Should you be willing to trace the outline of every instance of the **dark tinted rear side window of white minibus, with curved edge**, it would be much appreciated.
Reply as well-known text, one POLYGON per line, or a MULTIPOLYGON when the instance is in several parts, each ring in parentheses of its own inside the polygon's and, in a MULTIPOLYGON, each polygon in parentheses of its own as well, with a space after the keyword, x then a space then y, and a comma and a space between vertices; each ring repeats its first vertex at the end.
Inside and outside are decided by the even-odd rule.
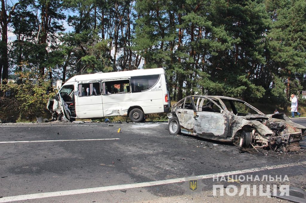
POLYGON ((154 87, 160 75, 146 75, 146 76, 136 76, 131 77, 131 89, 132 92, 143 92, 154 87))

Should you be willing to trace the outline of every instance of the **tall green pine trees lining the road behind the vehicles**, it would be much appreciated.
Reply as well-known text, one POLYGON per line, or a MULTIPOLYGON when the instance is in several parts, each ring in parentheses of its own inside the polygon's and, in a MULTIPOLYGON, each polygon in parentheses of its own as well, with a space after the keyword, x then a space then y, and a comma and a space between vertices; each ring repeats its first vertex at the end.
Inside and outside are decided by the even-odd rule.
POLYGON ((0 44, 0 64, 9 50, 6 69, 18 84, 15 71, 38 68, 55 81, 162 67, 175 100, 215 94, 285 108, 291 93, 306 89, 305 0, 19 3, 9 24, 16 40, 0 44), (62 32, 65 19, 70 27, 62 32))

